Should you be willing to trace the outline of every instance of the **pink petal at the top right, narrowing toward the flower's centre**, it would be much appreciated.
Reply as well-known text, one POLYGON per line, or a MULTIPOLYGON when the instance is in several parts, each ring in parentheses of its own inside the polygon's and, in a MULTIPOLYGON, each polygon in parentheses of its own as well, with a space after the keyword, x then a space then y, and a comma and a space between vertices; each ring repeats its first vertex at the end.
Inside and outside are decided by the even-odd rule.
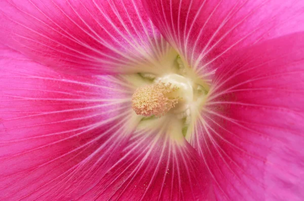
POLYGON ((167 41, 210 81, 234 50, 304 30, 304 2, 280 0, 143 0, 167 41))

